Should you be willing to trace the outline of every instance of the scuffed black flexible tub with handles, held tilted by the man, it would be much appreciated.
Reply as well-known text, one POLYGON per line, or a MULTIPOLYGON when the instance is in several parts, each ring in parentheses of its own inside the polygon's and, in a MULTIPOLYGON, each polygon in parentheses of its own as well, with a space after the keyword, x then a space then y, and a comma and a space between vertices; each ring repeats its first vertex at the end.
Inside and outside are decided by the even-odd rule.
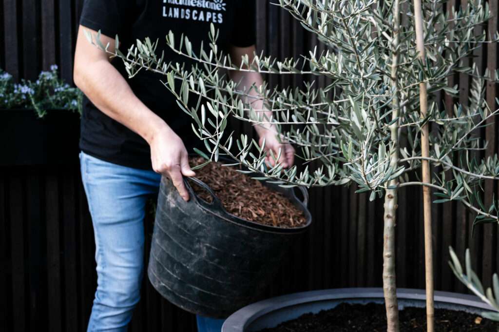
POLYGON ((164 298, 188 312, 227 318, 254 302, 292 241, 310 225, 308 195, 300 188, 301 202, 292 189, 265 184, 288 197, 307 219, 305 226, 282 229, 231 215, 206 184, 198 179, 185 182, 189 202, 169 179, 161 180, 149 280, 164 298), (190 181, 210 192, 213 203, 198 198, 190 181))

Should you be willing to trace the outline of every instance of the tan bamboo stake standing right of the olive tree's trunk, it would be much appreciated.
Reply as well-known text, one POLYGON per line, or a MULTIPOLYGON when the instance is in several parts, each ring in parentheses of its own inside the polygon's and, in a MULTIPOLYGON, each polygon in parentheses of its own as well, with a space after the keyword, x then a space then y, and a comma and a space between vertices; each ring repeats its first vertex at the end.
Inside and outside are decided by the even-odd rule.
MULTIPOLYGON (((416 23, 416 44, 419 51, 419 58, 426 62, 425 38, 423 31, 423 10, 421 0, 414 0, 414 18, 416 23)), ((426 118, 428 113, 428 93, 426 83, 419 84, 419 101, 421 107, 421 118, 426 118)), ((421 156, 430 157, 430 140, 428 122, 421 128, 421 156)), ((431 183, 430 162, 423 159, 422 164, 423 182, 431 183)), ((431 210, 431 188, 423 187, 423 206, 425 224, 425 270, 426 270, 426 320, 427 332, 435 330, 435 304, 434 304, 434 279, 433 279, 433 230, 432 230, 432 210, 431 210)))

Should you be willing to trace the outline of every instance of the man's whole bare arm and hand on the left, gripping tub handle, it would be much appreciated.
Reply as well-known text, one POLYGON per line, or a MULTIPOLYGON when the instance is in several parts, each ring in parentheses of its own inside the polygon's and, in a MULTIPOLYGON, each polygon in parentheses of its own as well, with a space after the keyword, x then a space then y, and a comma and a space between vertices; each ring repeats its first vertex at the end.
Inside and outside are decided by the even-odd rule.
MULTIPOLYGON (((74 82, 109 117, 142 136, 151 147, 153 169, 170 177, 185 200, 189 194, 182 175, 194 176, 182 139, 153 111, 135 96, 125 78, 114 68, 109 55, 88 42, 88 30, 79 27, 74 60, 74 82)), ((101 35, 104 45, 114 51, 113 38, 101 35)))

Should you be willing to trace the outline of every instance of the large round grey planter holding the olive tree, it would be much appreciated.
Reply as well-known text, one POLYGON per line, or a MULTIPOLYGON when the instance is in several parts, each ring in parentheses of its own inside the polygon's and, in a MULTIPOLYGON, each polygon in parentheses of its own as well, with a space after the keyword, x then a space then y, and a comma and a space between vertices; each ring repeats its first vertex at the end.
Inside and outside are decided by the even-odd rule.
MULTIPOLYGON (((425 291, 399 289, 399 307, 425 307, 425 291)), ((318 313, 340 303, 383 303, 381 288, 345 288, 296 293, 264 300, 245 307, 227 319, 222 332, 254 332, 273 328, 306 313, 318 313)), ((480 314, 491 307, 471 295, 435 293, 435 307, 480 314)))

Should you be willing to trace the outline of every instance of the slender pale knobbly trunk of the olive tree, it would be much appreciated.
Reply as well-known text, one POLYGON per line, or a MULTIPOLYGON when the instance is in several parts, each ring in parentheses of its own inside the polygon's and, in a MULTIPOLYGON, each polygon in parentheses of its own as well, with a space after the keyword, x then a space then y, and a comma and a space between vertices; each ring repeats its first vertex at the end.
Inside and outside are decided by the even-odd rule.
MULTIPOLYGON (((399 65, 399 29, 400 13, 399 0, 393 4, 393 39, 392 39, 392 68, 391 84, 393 91, 392 120, 399 117, 400 90, 398 86, 399 65)), ((399 123, 393 121, 390 125, 390 166, 393 169, 399 163, 399 123)), ((397 279, 395 271, 395 226, 397 216, 397 186, 398 179, 390 180, 385 192, 384 230, 383 230, 383 293, 385 296, 387 332, 399 332, 399 305, 397 301, 397 279)))

